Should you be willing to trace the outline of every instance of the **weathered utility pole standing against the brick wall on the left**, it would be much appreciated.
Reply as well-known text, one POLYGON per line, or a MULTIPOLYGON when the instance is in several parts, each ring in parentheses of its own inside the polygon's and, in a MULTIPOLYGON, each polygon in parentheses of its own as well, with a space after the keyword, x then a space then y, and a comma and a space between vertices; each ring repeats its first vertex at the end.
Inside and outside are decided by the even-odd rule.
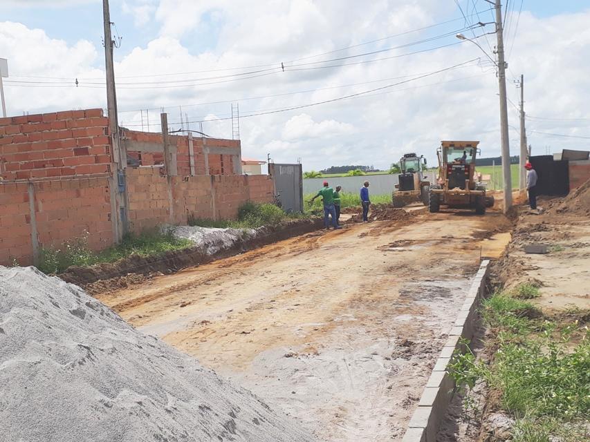
POLYGON ((127 186, 125 169, 127 168, 127 152, 121 145, 119 122, 117 116, 117 93, 115 90, 115 70, 113 68, 113 46, 111 36, 111 12, 109 0, 102 0, 102 18, 104 21, 104 61, 107 71, 107 116, 109 117, 109 129, 113 145, 113 163, 116 173, 111 181, 111 198, 114 197, 113 208, 116 213, 111 213, 113 221, 113 237, 116 242, 122 239, 127 232, 127 186))

